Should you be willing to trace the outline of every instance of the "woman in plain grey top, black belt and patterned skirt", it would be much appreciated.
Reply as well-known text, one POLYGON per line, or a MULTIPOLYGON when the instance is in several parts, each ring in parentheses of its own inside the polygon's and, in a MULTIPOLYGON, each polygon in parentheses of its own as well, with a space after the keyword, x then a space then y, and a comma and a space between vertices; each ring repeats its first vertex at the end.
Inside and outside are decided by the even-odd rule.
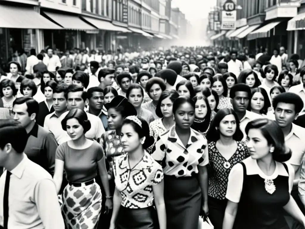
POLYGON ((107 213, 113 208, 104 151, 100 144, 85 137, 91 124, 83 110, 70 110, 61 124, 71 140, 57 147, 53 180, 59 193, 66 172, 69 184, 60 196, 66 227, 96 228, 102 209, 101 188, 95 183, 97 169, 106 192, 107 213))

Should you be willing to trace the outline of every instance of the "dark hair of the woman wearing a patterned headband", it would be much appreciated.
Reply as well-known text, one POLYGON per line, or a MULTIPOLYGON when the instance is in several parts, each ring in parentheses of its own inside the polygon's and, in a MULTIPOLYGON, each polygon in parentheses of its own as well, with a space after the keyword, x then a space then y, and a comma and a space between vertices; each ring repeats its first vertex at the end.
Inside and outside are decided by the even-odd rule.
POLYGON ((127 118, 124 119, 122 127, 123 125, 130 124, 132 128, 135 130, 135 132, 139 135, 139 138, 145 137, 143 149, 146 150, 152 144, 149 137, 149 125, 143 118, 140 117, 137 118, 141 121, 142 128, 139 124, 127 118))

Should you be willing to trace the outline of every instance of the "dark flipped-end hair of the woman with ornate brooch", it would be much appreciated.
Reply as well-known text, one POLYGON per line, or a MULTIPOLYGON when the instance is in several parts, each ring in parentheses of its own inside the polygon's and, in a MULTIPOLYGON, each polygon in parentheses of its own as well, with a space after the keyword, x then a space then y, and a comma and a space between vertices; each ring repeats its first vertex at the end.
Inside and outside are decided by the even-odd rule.
POLYGON ((274 161, 286 162, 291 158, 292 152, 286 150, 283 131, 275 121, 267 118, 255 119, 246 125, 245 132, 247 135, 250 129, 260 129, 268 145, 274 147, 272 152, 274 161))

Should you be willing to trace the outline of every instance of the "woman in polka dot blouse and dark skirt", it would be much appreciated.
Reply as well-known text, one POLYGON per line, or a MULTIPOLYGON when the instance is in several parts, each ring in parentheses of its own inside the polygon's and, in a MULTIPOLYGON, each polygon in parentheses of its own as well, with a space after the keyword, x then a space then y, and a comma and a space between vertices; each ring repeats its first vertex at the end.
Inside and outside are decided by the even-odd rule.
POLYGON ((163 166, 167 228, 197 229, 201 209, 206 214, 209 211, 207 140, 190 128, 195 119, 194 101, 179 96, 173 113, 175 125, 158 137, 152 157, 163 166))

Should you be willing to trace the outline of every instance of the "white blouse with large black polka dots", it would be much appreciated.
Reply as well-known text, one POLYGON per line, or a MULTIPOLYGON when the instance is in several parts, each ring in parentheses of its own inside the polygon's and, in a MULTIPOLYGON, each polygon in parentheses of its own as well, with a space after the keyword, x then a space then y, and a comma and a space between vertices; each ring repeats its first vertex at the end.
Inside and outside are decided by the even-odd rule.
POLYGON ((162 161, 165 175, 183 177, 198 173, 197 166, 209 163, 206 138, 191 128, 190 138, 186 147, 176 133, 175 126, 158 137, 152 157, 162 161))

